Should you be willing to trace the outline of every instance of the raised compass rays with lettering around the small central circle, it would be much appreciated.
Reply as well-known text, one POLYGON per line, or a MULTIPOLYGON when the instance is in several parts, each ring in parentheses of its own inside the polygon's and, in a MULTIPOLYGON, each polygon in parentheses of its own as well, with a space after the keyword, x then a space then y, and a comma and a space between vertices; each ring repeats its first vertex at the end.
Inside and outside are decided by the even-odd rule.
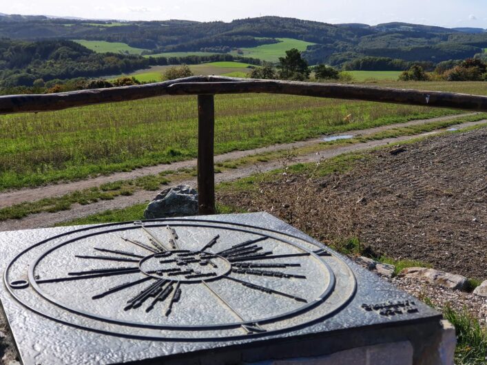
MULTIPOLYGON (((141 309, 145 306, 145 311, 152 311, 157 305, 164 306, 166 316, 170 315, 174 304, 181 300, 182 285, 203 284, 209 292, 218 298, 220 304, 225 306, 242 322, 248 322, 245 318, 232 307, 223 296, 214 289, 209 280, 226 279, 241 284, 247 288, 267 293, 269 295, 279 295, 282 298, 289 298, 297 302, 307 303, 307 300, 300 298, 292 293, 271 289, 267 286, 260 286, 245 280, 231 277, 231 273, 245 275, 269 276, 281 279, 306 279, 305 275, 299 275, 288 269, 300 267, 297 262, 289 263, 269 263, 267 261, 277 258, 289 258, 307 256, 309 253, 294 253, 284 255, 274 255, 272 251, 265 251, 259 244, 267 240, 268 236, 262 236, 253 240, 245 240, 232 245, 229 249, 216 251, 213 247, 217 244, 220 235, 214 236, 199 251, 189 251, 180 249, 178 244, 178 234, 176 229, 167 225, 169 232, 167 242, 162 242, 157 238, 149 228, 141 225, 144 233, 147 235, 147 242, 133 240, 121 237, 122 240, 137 247, 142 247, 150 254, 147 256, 137 255, 129 251, 102 249, 94 247, 93 255, 76 255, 76 258, 85 260, 105 260, 113 262, 130 262, 134 266, 123 266, 103 269, 89 269, 86 271, 74 271, 68 273, 67 277, 37 280, 37 284, 65 282, 74 280, 88 280, 92 278, 112 276, 112 275, 129 275, 141 272, 146 276, 144 278, 124 282, 113 286, 107 291, 103 291, 92 296, 92 300, 104 298, 107 295, 123 291, 132 286, 143 286, 143 289, 129 298, 125 303, 124 311, 141 309), (110 253, 99 254, 96 253, 110 253), (259 263, 266 261, 265 263, 259 263), (136 265, 136 266, 135 266, 136 265)), ((329 255, 324 250, 318 250, 320 255, 329 255)), ((242 324, 242 329, 247 333, 262 333, 265 329, 261 328, 258 323, 242 324)))

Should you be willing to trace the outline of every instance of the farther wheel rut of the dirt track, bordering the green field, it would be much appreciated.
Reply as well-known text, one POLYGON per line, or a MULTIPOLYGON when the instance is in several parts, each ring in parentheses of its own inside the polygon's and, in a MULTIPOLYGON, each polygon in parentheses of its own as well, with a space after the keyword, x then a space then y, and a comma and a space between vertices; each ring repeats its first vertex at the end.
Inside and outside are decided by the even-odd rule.
MULTIPOLYGON (((460 114, 455 116, 442 116, 439 118, 431 118, 431 119, 421 119, 416 121, 409 121, 406 123, 399 123, 393 125, 383 125, 381 127, 369 128, 369 129, 360 129, 349 131, 343 134, 352 134, 353 136, 366 136, 370 134, 375 134, 378 132, 383 132, 388 129, 393 129, 397 127, 407 127, 411 125, 422 125, 425 123, 432 123, 438 121, 450 121, 455 118, 463 117, 463 116, 472 116, 477 113, 468 113, 468 114, 460 114)), ((245 156, 251 156, 254 154, 262 154, 264 152, 274 152, 279 150, 286 150, 286 149, 293 149, 304 147, 307 145, 313 145, 315 143, 322 142, 322 138, 313 138, 309 140, 303 140, 300 142, 295 143, 285 143, 282 145, 271 145, 269 147, 262 147, 257 149, 250 149, 247 151, 235 151, 229 152, 228 154, 222 154, 215 156, 215 162, 220 163, 227 160, 235 160, 237 158, 242 158, 245 156)), ((128 172, 117 172, 110 175, 103 175, 97 176, 95 178, 89 178, 86 180, 79 180, 73 181, 70 183, 61 183, 56 185, 46 185, 44 187, 36 187, 36 188, 26 188, 26 189, 19 189, 14 191, 6 191, 0 193, 0 208, 2 207, 9 207, 10 205, 19 204, 20 202, 26 201, 34 201, 40 200, 43 198, 51 198, 54 196, 63 196, 65 194, 70 193, 71 191, 87 189, 90 187, 98 187, 104 183, 111 183, 116 180, 129 180, 133 178, 138 178, 141 176, 146 175, 155 175, 161 171, 175 171, 178 169, 184 169, 188 167, 196 167, 196 159, 193 160, 186 160, 181 161, 178 163, 172 163, 170 165, 156 165, 156 166, 149 166, 143 167, 141 169, 134 169, 128 172)))

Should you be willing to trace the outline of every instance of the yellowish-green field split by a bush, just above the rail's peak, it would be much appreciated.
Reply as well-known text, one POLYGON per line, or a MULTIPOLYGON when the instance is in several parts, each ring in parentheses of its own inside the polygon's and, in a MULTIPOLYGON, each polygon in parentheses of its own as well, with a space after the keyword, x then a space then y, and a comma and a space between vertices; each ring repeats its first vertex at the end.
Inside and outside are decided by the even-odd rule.
MULTIPOLYGON (((211 62, 200 65, 189 65, 189 68, 195 75, 222 75, 230 77, 246 77, 250 71, 248 63, 241 62, 211 62)), ((118 79, 122 76, 134 76, 138 81, 143 83, 151 81, 161 81, 162 74, 169 66, 152 66, 145 70, 138 70, 130 74, 121 74, 110 76, 109 79, 118 79)))

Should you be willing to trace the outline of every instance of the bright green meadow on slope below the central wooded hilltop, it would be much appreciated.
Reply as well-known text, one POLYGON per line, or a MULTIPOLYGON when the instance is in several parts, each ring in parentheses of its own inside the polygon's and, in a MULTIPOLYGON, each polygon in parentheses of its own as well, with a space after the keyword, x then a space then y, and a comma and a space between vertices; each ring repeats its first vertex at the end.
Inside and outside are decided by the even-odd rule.
POLYGON ((306 50, 308 45, 315 43, 309 43, 292 38, 279 38, 279 43, 259 45, 253 48, 240 48, 243 54, 238 54, 236 51, 232 51, 234 56, 252 57, 254 59, 261 59, 262 61, 278 62, 279 57, 285 56, 287 50, 291 48, 297 48, 300 51, 306 50))

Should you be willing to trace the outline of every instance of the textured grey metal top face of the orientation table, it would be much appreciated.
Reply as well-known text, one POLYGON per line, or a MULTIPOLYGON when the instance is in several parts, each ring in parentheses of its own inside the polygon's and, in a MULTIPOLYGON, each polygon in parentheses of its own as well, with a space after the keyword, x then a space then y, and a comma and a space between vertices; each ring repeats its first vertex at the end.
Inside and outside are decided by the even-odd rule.
POLYGON ((46 364, 438 317, 265 213, 5 232, 0 253, 21 355, 46 364))

